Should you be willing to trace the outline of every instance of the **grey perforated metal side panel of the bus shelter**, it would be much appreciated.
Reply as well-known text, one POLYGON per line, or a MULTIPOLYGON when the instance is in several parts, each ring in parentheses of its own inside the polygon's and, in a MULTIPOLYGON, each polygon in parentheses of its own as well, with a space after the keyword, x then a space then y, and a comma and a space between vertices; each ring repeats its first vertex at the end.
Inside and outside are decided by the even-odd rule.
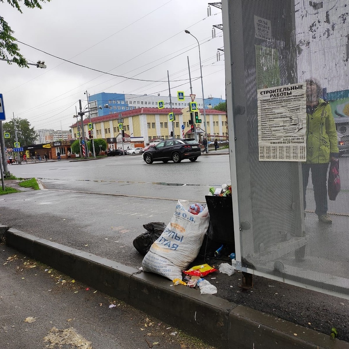
POLYGON ((222 1, 236 268, 346 298, 348 8, 347 0, 222 1), (258 108, 262 95, 270 112, 258 108), (263 127, 272 141, 262 149, 263 127), (328 185, 335 195, 338 179, 327 178, 339 151, 333 201, 328 185))

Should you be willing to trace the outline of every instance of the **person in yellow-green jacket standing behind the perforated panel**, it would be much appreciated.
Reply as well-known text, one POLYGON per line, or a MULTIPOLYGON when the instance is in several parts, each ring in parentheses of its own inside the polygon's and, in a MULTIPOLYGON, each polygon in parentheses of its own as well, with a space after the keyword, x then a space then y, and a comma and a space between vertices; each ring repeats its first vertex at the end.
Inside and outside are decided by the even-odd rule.
POLYGON ((327 171, 331 158, 338 157, 338 139, 331 106, 321 96, 321 86, 314 79, 306 80, 306 162, 302 163, 303 199, 309 181, 314 188, 315 213, 321 223, 331 224, 327 214, 327 171))

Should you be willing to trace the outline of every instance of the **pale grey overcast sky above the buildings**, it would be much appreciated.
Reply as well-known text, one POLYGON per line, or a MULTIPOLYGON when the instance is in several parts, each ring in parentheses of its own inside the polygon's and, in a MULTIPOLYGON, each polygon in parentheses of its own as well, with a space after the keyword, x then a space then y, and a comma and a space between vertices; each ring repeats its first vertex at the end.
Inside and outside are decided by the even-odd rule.
MULTIPOLYGON (((1 16, 21 42, 78 64, 126 77, 166 82, 127 80, 75 66, 30 47, 18 44, 29 62, 45 60, 46 69, 19 68, 1 64, 0 93, 7 120, 26 118, 32 126, 63 130, 74 123, 75 106, 84 91, 168 95, 170 80, 188 79, 187 55, 192 80, 200 77, 196 40, 201 49, 205 98, 225 98, 223 32, 212 25, 222 23, 221 10, 202 0, 52 0, 43 9, 22 8, 23 14, 1 3, 1 16), (149 50, 150 49, 150 50, 149 50), (176 56, 176 57, 175 57, 176 56)), ((171 82, 171 94, 184 90, 187 81, 171 82), (177 85, 184 84, 181 87, 177 85), (172 89, 173 87, 173 89, 172 89)), ((201 97, 200 79, 193 81, 193 93, 201 97)))

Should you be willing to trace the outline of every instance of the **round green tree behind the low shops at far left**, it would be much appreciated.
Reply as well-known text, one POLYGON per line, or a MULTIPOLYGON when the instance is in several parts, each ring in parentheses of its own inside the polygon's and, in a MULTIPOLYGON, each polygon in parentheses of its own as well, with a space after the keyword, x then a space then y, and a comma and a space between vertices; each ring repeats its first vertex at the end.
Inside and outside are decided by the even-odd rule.
MULTIPOLYGON (((38 138, 38 134, 34 130, 34 127, 30 127, 30 122, 27 119, 17 118, 17 139, 21 147, 34 144, 38 138)), ((10 134, 10 138, 5 138, 5 145, 8 148, 13 148, 15 140, 15 124, 14 120, 3 123, 3 131, 10 134)))

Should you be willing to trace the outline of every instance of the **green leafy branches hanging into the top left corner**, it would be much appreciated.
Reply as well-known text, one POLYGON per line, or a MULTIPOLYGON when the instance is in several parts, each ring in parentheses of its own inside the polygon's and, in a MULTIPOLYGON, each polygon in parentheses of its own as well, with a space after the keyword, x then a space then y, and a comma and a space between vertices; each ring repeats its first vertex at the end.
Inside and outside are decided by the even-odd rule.
MULTIPOLYGON (((49 2, 51 0, 24 0, 24 6, 29 8, 39 8, 41 9, 41 3, 49 2)), ((4 2, 4 0, 0 0, 4 2)), ((21 2, 22 0, 7 0, 9 5, 16 8, 20 13, 22 13, 21 2)), ((20 49, 16 44, 16 38, 13 36, 14 31, 10 28, 8 23, 3 17, 0 16, 0 58, 13 61, 21 68, 28 67, 27 60, 21 55, 20 49)))

